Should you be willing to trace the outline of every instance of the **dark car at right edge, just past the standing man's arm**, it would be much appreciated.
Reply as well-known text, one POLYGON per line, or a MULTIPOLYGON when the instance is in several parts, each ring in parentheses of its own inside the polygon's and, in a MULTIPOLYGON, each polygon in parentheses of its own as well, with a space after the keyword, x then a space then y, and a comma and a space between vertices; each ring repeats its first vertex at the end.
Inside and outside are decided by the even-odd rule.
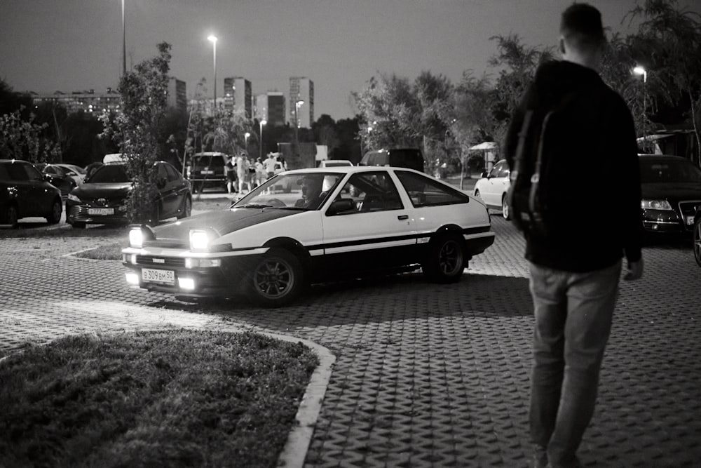
POLYGON ((639 161, 646 232, 691 232, 701 210, 701 169, 679 156, 641 154, 639 161))

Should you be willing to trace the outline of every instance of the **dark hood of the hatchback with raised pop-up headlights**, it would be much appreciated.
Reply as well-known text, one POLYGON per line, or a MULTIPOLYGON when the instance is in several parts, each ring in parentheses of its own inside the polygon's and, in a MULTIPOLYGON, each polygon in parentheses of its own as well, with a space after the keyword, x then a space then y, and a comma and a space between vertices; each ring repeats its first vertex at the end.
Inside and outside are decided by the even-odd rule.
POLYGON ((168 225, 156 227, 156 239, 162 241, 189 242, 190 229, 212 229, 220 236, 244 229, 262 222, 278 220, 291 215, 305 213, 304 210, 283 210, 276 208, 233 208, 215 210, 184 218, 168 225))

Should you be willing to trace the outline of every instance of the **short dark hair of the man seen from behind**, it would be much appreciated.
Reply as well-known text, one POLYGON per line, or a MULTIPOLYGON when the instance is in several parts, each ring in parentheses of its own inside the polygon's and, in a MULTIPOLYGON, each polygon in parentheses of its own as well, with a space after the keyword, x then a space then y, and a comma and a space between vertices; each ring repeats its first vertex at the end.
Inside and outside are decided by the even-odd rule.
POLYGON ((590 4, 573 4, 562 13, 560 34, 575 48, 591 49, 606 44, 601 13, 590 4))

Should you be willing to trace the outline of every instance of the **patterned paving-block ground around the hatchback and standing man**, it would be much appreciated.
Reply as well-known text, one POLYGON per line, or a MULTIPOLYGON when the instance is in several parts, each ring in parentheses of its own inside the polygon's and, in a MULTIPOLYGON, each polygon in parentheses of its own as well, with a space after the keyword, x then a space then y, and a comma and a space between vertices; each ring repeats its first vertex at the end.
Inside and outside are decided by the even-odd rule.
MULTIPOLYGON (((184 304, 126 288, 118 262, 60 257, 95 239, 2 239, 0 353, 69 333, 240 323, 338 356, 306 466, 526 467, 528 274, 520 236, 492 219, 495 245, 458 284, 407 274, 317 286, 277 310, 184 304)), ((646 248, 644 279, 622 282, 586 466, 701 460, 701 268, 689 244, 646 248)))

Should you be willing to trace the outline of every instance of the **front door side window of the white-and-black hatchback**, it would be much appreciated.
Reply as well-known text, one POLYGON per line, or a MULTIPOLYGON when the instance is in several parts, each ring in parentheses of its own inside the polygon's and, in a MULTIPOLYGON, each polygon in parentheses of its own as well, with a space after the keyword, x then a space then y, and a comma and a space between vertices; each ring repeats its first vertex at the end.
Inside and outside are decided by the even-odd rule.
POLYGON ((397 187, 386 171, 351 175, 338 199, 352 199, 355 209, 348 213, 401 210, 404 208, 397 187))

